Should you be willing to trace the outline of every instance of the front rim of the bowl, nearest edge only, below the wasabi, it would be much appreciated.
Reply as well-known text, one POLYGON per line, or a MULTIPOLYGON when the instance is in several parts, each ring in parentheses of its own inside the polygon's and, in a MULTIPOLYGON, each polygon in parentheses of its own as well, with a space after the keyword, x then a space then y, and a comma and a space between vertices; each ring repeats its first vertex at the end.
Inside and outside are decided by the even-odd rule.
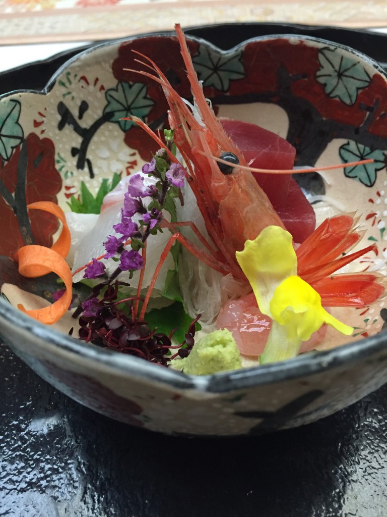
MULTIPOLYGON (((346 343, 328 351, 300 354, 285 361, 218 372, 211 375, 190 375, 171 368, 158 367, 140 358, 118 354, 71 338, 58 330, 33 320, 27 314, 15 309, 10 303, 0 298, 0 324, 2 319, 7 326, 10 325, 17 329, 18 333, 29 332, 37 340, 43 340, 45 346, 48 344, 54 353, 55 348, 59 348, 61 351, 75 356, 90 359, 101 367, 113 368, 121 374, 134 376, 143 381, 208 393, 231 392, 252 386, 282 383, 296 377, 308 377, 341 367, 344 364, 365 361, 368 357, 381 354, 383 351, 385 351, 385 355, 379 359, 387 358, 387 334, 381 332, 376 336, 346 343)), ((3 328, 4 324, 0 326, 0 334, 3 334, 3 328)), ((7 340, 4 341, 8 344, 7 340)), ((12 345, 10 347, 13 349, 12 345)))

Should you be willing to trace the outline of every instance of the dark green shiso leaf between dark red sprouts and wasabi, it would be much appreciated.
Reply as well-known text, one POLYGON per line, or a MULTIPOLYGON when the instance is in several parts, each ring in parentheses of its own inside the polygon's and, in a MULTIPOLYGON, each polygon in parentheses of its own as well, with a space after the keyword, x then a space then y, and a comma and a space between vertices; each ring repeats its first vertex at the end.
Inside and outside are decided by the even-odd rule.
MULTIPOLYGON (((164 332, 167 336, 169 336, 171 330, 178 327, 173 337, 181 343, 188 332, 193 317, 185 312, 183 303, 175 301, 169 307, 151 309, 147 312, 145 319, 151 328, 157 327, 158 332, 164 332)), ((199 323, 196 324, 196 329, 201 329, 199 323)))

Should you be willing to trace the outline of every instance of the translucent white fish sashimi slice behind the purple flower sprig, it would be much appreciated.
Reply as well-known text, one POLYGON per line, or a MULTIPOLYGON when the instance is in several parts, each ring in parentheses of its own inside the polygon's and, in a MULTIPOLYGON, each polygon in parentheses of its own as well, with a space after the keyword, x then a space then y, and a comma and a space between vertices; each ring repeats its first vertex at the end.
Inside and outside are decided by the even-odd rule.
MULTIPOLYGON (((152 183, 154 183, 148 176, 143 174, 141 174, 141 176, 144 178, 145 185, 151 185, 152 183)), ((128 181, 131 177, 133 176, 123 178, 117 185, 117 187, 105 196, 101 208, 101 214, 99 216, 96 216, 96 220, 93 226, 91 227, 91 229, 89 229, 89 231, 86 234, 84 234, 83 238, 79 238, 75 242, 74 246, 72 247, 72 252, 74 256, 72 269, 73 271, 76 271, 78 268, 90 262, 93 257, 96 258, 103 255, 106 252, 103 243, 106 241, 109 235, 114 235, 117 238, 121 237, 120 234, 117 234, 113 230, 112 226, 121 221, 121 208, 123 207, 125 192, 127 192, 128 181)), ((147 205, 147 203, 149 202, 150 198, 144 198, 144 205, 147 205)), ((76 216, 78 215, 80 214, 74 214, 73 219, 75 220, 76 216)), ((132 220, 134 222, 137 222, 138 218, 136 220, 136 217, 134 216, 132 220)), ((72 227, 70 227, 70 230, 72 231, 72 227)), ((166 230, 163 233, 157 233, 157 235, 150 235, 148 237, 147 262, 142 282, 143 288, 149 286, 153 277, 153 273, 156 269, 159 257, 164 251, 164 248, 170 236, 170 232, 166 230)), ((111 274, 113 271, 116 270, 118 263, 112 260, 112 258, 109 258, 108 260, 102 260, 106 266, 108 274, 111 274)), ((168 254, 155 284, 155 290, 158 291, 158 293, 163 292, 167 271, 169 269, 173 269, 173 267, 173 257, 170 254, 168 254)), ((119 278, 122 281, 127 281, 127 276, 127 273, 123 272, 121 273, 119 278)), ((79 280, 82 280, 83 277, 84 271, 80 271, 74 275, 73 281, 79 282, 79 280)), ((131 286, 137 287, 138 279, 139 271, 135 272, 133 278, 131 279, 131 286)))

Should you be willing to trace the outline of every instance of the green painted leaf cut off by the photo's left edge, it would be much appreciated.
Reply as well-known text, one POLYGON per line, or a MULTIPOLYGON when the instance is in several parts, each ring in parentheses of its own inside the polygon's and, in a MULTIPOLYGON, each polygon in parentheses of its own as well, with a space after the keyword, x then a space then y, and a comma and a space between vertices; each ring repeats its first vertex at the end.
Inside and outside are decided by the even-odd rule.
POLYGON ((23 128, 19 124, 21 104, 17 100, 0 102, 0 156, 9 160, 13 149, 23 140, 23 128))

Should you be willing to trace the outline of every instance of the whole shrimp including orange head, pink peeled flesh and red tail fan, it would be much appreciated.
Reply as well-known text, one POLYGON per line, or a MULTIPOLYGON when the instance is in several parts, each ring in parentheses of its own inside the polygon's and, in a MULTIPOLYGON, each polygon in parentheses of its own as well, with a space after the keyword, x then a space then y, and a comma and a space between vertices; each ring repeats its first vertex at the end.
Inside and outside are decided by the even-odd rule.
MULTIPOLYGON (((265 192, 256 183, 244 156, 216 119, 211 105, 203 95, 202 87, 193 69, 182 29, 180 25, 176 25, 175 28, 191 85, 193 105, 183 100, 174 91, 163 72, 151 59, 142 54, 139 55, 147 60, 147 66, 156 72, 157 77, 145 71, 139 73, 157 81, 162 86, 168 100, 170 108, 168 118, 170 127, 174 129, 174 142, 186 164, 188 170, 186 178, 195 194, 208 237, 215 246, 215 249, 206 246, 211 250, 214 267, 216 268, 216 264, 223 263, 223 274, 231 273, 234 279, 246 282, 243 272, 236 263, 235 252, 242 250, 246 240, 255 239, 265 227, 275 225, 284 229, 284 224, 273 209, 265 192), (222 160, 214 160, 214 157, 221 159, 230 154, 232 163, 227 169, 219 166, 218 162, 222 162, 222 160)), ((133 117, 133 120, 151 134, 160 145, 163 145, 146 124, 136 117, 133 117)), ((172 155, 170 155, 170 159, 176 161, 172 155)), ((223 163, 227 163, 227 160, 223 160, 223 163)), ((345 265, 344 262, 347 264, 358 256, 375 250, 375 246, 368 246, 358 253, 348 255, 344 262, 338 258, 361 238, 361 234, 353 230, 354 222, 352 216, 338 216, 334 222, 331 224, 328 222, 325 225, 324 239, 320 240, 321 232, 316 235, 312 234, 311 238, 300 247, 299 275, 307 277, 311 267, 316 266, 315 287, 317 291, 320 287, 322 300, 324 302, 325 296, 328 306, 365 307, 378 299, 384 291, 383 287, 378 284, 376 275, 357 274, 348 278, 344 276, 340 281, 340 286, 337 284, 336 291, 336 286, 329 283, 330 278, 328 281, 325 280, 326 277, 345 265), (316 245, 318 256, 316 254, 308 255, 308 251, 305 251, 308 250, 308 246, 311 246, 315 252, 316 245), (322 267, 325 263, 331 264, 331 266, 319 276, 318 267, 322 267), (358 282, 358 296, 353 294, 353 281, 358 282)), ((184 224, 189 223, 175 223, 174 225, 166 223, 166 226, 173 231, 175 227, 184 224)), ((313 275, 309 274, 309 277, 308 280, 313 284, 313 275)), ((251 290, 247 288, 247 291, 251 290)), ((243 295, 243 288, 240 289, 240 286, 239 300, 236 303, 232 301, 223 307, 217 324, 218 327, 233 330, 238 346, 245 354, 259 355, 263 351, 270 320, 260 313, 254 296, 251 293, 243 295), (235 311, 238 313, 237 317, 235 311), (236 321, 237 323, 235 323, 236 321), (245 332, 239 332, 242 330, 245 332)), ((325 327, 322 327, 318 331, 318 335, 312 336, 308 343, 304 343, 303 350, 313 347, 321 341, 324 334, 325 327)))

